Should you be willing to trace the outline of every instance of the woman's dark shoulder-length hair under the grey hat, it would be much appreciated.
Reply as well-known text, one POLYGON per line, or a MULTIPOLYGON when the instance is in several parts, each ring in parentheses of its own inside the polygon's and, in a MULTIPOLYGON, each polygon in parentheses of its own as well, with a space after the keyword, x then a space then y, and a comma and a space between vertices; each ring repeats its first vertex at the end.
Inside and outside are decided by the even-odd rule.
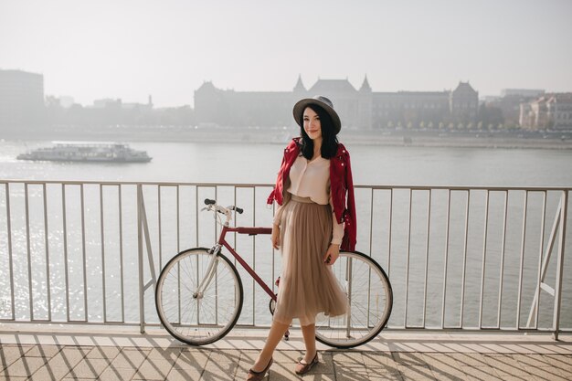
MULTIPOLYGON (((317 104, 309 104, 307 107, 312 109, 318 114, 320 118, 320 125, 322 126, 322 149, 321 154, 324 159, 331 159, 335 156, 338 149, 338 139, 334 132, 334 122, 330 118, 330 114, 323 110, 322 107, 317 104)), ((310 136, 304 131, 304 115, 300 117, 300 135, 302 136, 302 144, 300 147, 300 152, 308 160, 312 160, 313 157, 313 141, 310 136)))

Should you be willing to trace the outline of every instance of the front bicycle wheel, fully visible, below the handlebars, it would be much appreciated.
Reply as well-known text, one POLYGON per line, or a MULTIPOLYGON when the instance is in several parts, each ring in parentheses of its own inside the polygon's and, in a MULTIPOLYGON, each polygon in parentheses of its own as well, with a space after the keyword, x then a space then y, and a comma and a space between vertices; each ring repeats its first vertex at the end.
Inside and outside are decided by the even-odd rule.
POLYGON ((169 333, 186 344, 216 342, 237 323, 242 310, 242 282, 237 269, 221 254, 205 291, 197 294, 212 258, 207 249, 187 249, 169 260, 157 280, 159 319, 169 333))

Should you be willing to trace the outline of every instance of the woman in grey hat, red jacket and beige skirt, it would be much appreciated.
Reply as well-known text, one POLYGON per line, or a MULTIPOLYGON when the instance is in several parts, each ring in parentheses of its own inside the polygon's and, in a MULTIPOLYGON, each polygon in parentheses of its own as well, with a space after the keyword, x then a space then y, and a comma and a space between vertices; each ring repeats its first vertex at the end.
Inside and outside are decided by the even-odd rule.
POLYGON ((301 138, 284 150, 268 199, 269 204, 279 204, 271 236, 272 246, 282 254, 278 301, 268 339, 247 380, 266 376, 274 349, 293 318, 300 320, 306 347, 294 371, 309 372, 318 363, 316 315, 342 315, 348 303, 331 268, 340 248, 355 249, 354 185, 349 153, 336 138, 340 118, 322 96, 298 101, 293 114, 301 138))

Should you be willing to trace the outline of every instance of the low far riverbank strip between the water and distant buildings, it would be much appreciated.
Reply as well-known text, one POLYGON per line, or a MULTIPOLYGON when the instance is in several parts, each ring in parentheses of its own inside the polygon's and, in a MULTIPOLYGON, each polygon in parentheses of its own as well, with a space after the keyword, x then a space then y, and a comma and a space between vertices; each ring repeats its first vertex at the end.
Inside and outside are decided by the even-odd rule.
MULTIPOLYGON (((294 128, 198 128, 198 127, 102 127, 97 129, 58 128, 34 132, 11 131, 0 134, 5 140, 113 141, 164 143, 288 143, 298 134, 294 128)), ((340 141, 351 145, 465 147, 508 149, 572 149, 572 132, 428 132, 358 131, 345 129, 340 141)))

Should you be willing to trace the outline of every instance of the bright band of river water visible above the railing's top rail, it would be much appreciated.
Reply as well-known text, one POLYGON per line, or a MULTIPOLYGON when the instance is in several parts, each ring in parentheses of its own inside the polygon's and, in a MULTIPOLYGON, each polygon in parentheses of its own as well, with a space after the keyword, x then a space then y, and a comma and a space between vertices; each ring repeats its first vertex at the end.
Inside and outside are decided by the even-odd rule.
MULTIPOLYGON (((149 164, 17 161, 49 142, 0 142, 0 177, 35 180, 272 183, 276 144, 131 143, 149 164)), ((355 184, 571 186, 572 150, 347 146, 355 184)))

